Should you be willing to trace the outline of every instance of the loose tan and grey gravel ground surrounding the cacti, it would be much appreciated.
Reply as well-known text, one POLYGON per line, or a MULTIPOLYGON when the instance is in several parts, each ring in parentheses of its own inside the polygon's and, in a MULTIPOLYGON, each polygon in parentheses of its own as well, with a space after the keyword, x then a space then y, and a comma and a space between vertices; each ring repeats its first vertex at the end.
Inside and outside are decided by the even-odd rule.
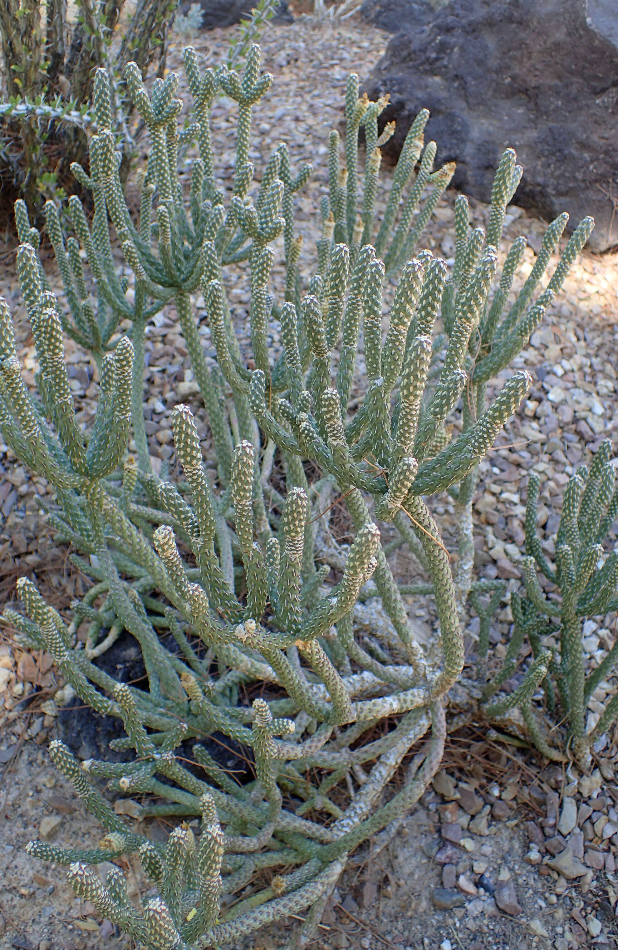
MULTIPOLYGON (((229 36, 228 30, 216 30, 197 37, 194 42, 203 53, 211 47, 216 59, 218 53, 226 48, 229 36)), ((272 148, 278 142, 285 141, 290 146, 293 167, 298 167, 304 161, 312 161, 315 166, 314 177, 297 203, 296 218, 304 237, 301 257, 304 276, 312 271, 315 239, 318 236, 317 209, 321 195, 327 191, 328 132, 340 125, 347 75, 356 69, 361 77, 365 76, 381 56, 386 40, 386 35, 376 29, 351 22, 342 28, 315 28, 307 22, 297 21, 293 27, 270 28, 261 41, 263 66, 274 74, 275 83, 255 110, 256 136, 250 159, 256 164, 259 178, 272 148)), ((169 66, 183 76, 180 49, 181 44, 177 43, 171 50, 169 66)), ((182 80, 181 94, 184 90, 182 80)), ((229 112, 229 104, 225 101, 213 110, 218 172, 222 186, 227 190, 234 173, 235 117, 229 112)), ((390 172, 386 169, 382 176, 383 190, 378 196, 378 206, 380 202, 383 206, 389 186, 390 172)), ((425 239, 428 246, 447 259, 454 254, 454 198, 454 193, 447 193, 425 239)), ((478 202, 471 204, 473 223, 486 224, 487 207, 478 202)), ((516 206, 509 209, 500 256, 505 256, 514 237, 524 235, 529 241, 515 289, 531 271, 545 227, 543 222, 529 218, 516 206)), ((283 273, 281 257, 278 256, 275 269, 278 280, 283 273)), ((556 260, 550 262, 550 273, 556 260)), ((526 367, 531 371, 534 383, 529 400, 508 425, 501 439, 504 447, 494 448, 481 466, 475 499, 477 569, 481 576, 509 580, 509 593, 492 630, 498 657, 504 654, 504 641, 512 619, 509 605, 511 592, 519 584, 517 565, 524 540, 523 517, 528 472, 532 468, 540 474, 542 507, 539 530, 546 551, 552 554, 562 492, 573 466, 589 462, 603 438, 610 437, 613 440, 614 450, 618 446, 618 403, 614 394, 618 325, 613 315, 618 293, 618 282, 615 280, 617 260, 617 255, 595 257, 585 252, 572 268, 563 293, 533 335, 530 347, 514 361, 515 367, 526 367)), ((59 287, 52 256, 46 260, 46 267, 54 287, 59 287)), ((25 379, 33 388, 35 352, 15 276, 14 251, 11 249, 3 257, 3 272, 3 293, 9 299, 15 316, 18 350, 25 367, 25 379)), ((249 293, 241 271, 229 277, 228 288, 241 348, 248 352, 249 293)), ((199 297, 196 303, 198 309, 203 306, 199 297)), ((270 332, 273 350, 277 351, 280 340, 279 328, 275 323, 270 332)), ((210 349, 208 328, 202 326, 201 333, 206 351, 212 356, 214 351, 210 349)), ((94 414, 98 392, 95 366, 70 341, 67 354, 78 419, 88 423, 94 414)), ((149 328, 147 359, 146 428, 153 463, 157 466, 163 461, 173 463, 170 418, 174 403, 180 400, 190 402, 202 421, 203 449, 208 458, 210 445, 203 422, 203 405, 196 398, 196 387, 173 309, 164 312, 157 326, 149 328)), ((490 399, 509 375, 509 371, 504 371, 500 378, 492 381, 490 399)), ((12 598, 14 581, 24 574, 36 577, 59 609, 67 609, 70 599, 79 596, 86 588, 87 581, 72 571, 66 552, 54 548, 45 520, 39 514, 36 496, 45 498, 48 491, 45 480, 30 478, 22 466, 15 465, 10 450, 0 445, 0 601, 12 598)), ((454 509, 446 496, 436 500, 435 511, 449 543, 454 509)), ((409 580, 410 572, 414 572, 412 559, 401 553, 394 559, 394 567, 401 580, 409 580)), ((419 625, 426 619, 432 619, 431 608, 426 609, 416 603, 414 607, 411 604, 411 609, 419 625)), ((474 623, 470 625, 468 633, 472 643, 474 623)), ((599 618, 598 623, 590 621, 585 640, 590 669, 605 656, 615 636, 613 618, 599 618)), ((39 709, 38 699, 32 704, 32 712, 28 715, 20 712, 18 706, 32 692, 33 684, 42 687, 46 698, 61 685, 54 671, 49 668, 47 656, 21 654, 6 639, 0 644, 0 701, 4 698, 4 711, 0 712, 0 764, 10 759, 8 747, 21 738, 23 732, 33 741, 24 746, 18 760, 13 759, 12 764, 7 766, 5 779, 9 779, 9 782, 5 782, 4 801, 0 799, 0 814, 7 829, 7 838, 3 842, 7 847, 5 866, 10 867, 0 907, 6 928, 4 938, 0 938, 0 946, 25 947, 29 942, 31 946, 38 944, 40 950, 55 946, 79 950, 84 946, 117 945, 109 935, 108 928, 104 930, 106 924, 102 924, 99 929, 89 909, 77 906, 68 896, 68 891, 65 893, 65 885, 61 883, 62 872, 42 865, 34 866, 19 852, 19 848, 30 837, 39 833, 41 821, 49 815, 66 816, 57 828, 49 832, 50 835, 57 833, 58 841, 68 842, 76 838, 86 841, 87 838, 93 840, 96 837, 96 831, 89 828, 81 815, 80 806, 75 805, 70 789, 64 787, 61 776, 56 776, 58 786, 54 787, 53 794, 48 792, 50 786, 46 783, 51 782, 51 767, 47 753, 37 748, 36 743, 42 745, 51 737, 53 716, 45 709, 39 709), (57 807, 53 805, 57 788, 61 789, 59 796, 72 800, 76 807, 70 818, 62 810, 63 806, 57 803, 57 807), (41 884, 36 875, 48 883, 41 884), (49 900, 44 899, 44 894, 37 888, 45 891, 52 884, 55 891, 49 900), (33 906, 36 910, 32 909, 33 906), (52 909, 46 911, 46 907, 52 909), (97 930, 70 922, 73 918, 94 921, 97 930), (73 929, 67 931, 68 925, 73 929), (21 939, 26 942, 15 943, 15 933, 21 933, 21 939)), ((600 691, 590 700, 590 717, 598 715, 599 703, 613 692, 613 683, 601 684, 600 691)), ((462 741, 465 745, 468 740, 464 737, 462 741)), ((615 747, 611 751, 615 757, 615 747)), ((458 765, 449 769, 456 781, 472 784, 478 794, 486 798, 489 796, 487 802, 483 798, 482 805, 490 806, 487 812, 490 815, 487 819, 489 834, 486 835, 483 830, 473 832, 472 823, 469 834, 467 820, 470 820, 470 813, 467 809, 458 805, 445 810, 448 803, 440 789, 429 792, 423 800, 423 807, 418 808, 407 823, 407 837, 401 836, 395 850, 383 852, 376 860, 366 855, 365 864, 356 869, 353 867, 346 875, 340 885, 340 907, 331 908, 329 913, 333 920, 327 915, 325 921, 325 925, 335 932, 324 930, 324 942, 320 946, 353 945, 363 950, 377 950, 378 947, 395 945, 398 950, 399 947, 437 948, 441 945, 443 950, 449 950, 449 946, 489 950, 491 947, 512 946, 513 934, 517 935, 516 939, 522 947, 553 945, 556 950, 567 950, 571 946, 586 946, 587 941, 592 945, 592 940, 594 946, 601 946, 604 941, 606 945, 608 941, 609 945, 613 945, 611 941, 614 940, 615 926, 612 908, 616 898, 612 889, 613 869, 608 856, 613 852, 613 838, 617 832, 614 830, 611 835, 607 832, 604 834, 608 823, 611 827, 616 821, 613 796, 606 795, 605 790, 599 791, 599 788, 591 789, 589 795, 584 795, 579 786, 570 787, 572 782, 569 776, 560 776, 558 781, 554 775, 551 782, 547 777, 540 780, 534 777, 532 780, 531 773, 537 776, 539 772, 538 763, 533 757, 526 758, 522 754, 513 765, 511 760, 507 762, 504 753, 500 754, 505 758, 505 764, 500 767, 497 794, 491 788, 489 760, 486 761, 485 772, 480 776, 478 773, 474 775, 474 756, 485 761, 481 750, 472 753, 472 758, 468 752, 469 761, 461 763, 457 760, 458 765), (524 794, 523 786, 529 789, 527 794, 524 794), (509 791, 512 787, 519 789, 514 796, 509 791), (535 797, 532 788, 540 788, 540 797, 535 797), (602 805, 599 801, 592 805, 590 796, 593 794, 602 799, 602 805), (558 837, 555 834, 555 815, 559 809, 553 798, 548 801, 548 795, 557 795, 562 808, 567 800, 573 800, 578 809, 590 802, 592 810, 589 817, 582 820, 581 829, 576 823, 576 827, 562 834, 565 848, 573 859, 582 862, 585 875, 589 870, 593 871, 591 880, 585 878, 588 881, 585 893, 580 880, 584 875, 568 881, 561 871, 549 866, 549 861, 553 859, 545 841, 548 837, 558 837), (502 808, 500 817, 495 809, 499 802, 504 802, 508 808, 512 808, 514 803, 517 810, 508 813, 502 808), (445 820, 445 815, 448 820, 445 820), (527 826, 524 824, 531 815, 536 815, 541 821, 541 837, 536 841, 536 850, 529 846, 527 826), (550 820, 552 816, 553 830, 550 825, 543 826, 543 821, 550 820), (591 837, 587 837, 587 823, 592 828, 591 837), (461 845, 461 839, 459 843, 451 841, 447 835, 456 837, 458 832, 452 830, 445 835, 444 827, 447 825, 459 826, 463 831, 462 838, 472 841, 473 848, 468 850, 466 845, 461 845), (552 830, 550 836, 546 834, 548 827, 552 830), (431 853, 434 847, 432 842, 435 844, 438 833, 446 837, 451 842, 450 846, 456 849, 456 854, 446 864, 439 863, 437 849, 431 853), (583 841, 581 848, 579 834, 583 841), (531 851, 532 858, 525 859, 524 855, 530 855, 531 851), (538 862, 536 855, 539 857, 538 862), (602 859, 597 855, 602 855, 602 859), (603 869, 600 867, 601 860, 603 869), (474 869, 474 862, 476 867, 480 867, 479 862, 487 863, 486 873, 492 887, 501 880, 504 882, 502 889, 509 890, 506 875, 511 875, 517 900, 523 908, 522 914, 513 920, 523 922, 513 924, 511 918, 505 917, 499 902, 494 902, 492 898, 491 887, 483 888, 484 893, 478 891, 481 872, 474 869), (414 872, 411 873, 413 866, 414 872), (447 866, 454 867, 454 871, 442 870, 442 867, 447 866), (503 867, 506 871, 502 870, 503 867), (435 888, 440 885, 446 891, 453 892, 451 897, 438 898, 438 902, 453 901, 450 909, 435 907, 435 888), (372 890, 372 887, 377 889, 372 890), (376 917, 377 895, 379 920, 376 917), (555 900, 552 899, 554 895, 555 900), (457 901, 454 901, 454 896, 457 901), (352 903, 346 903, 348 898, 352 903), (589 922, 589 918, 595 915, 601 925, 598 933, 596 923, 589 922), (355 922, 355 917, 358 921, 364 918, 370 929, 364 923, 360 925, 355 922), (534 921, 538 922, 538 926, 534 921), (549 936, 546 937, 544 933, 549 936)), ((609 773, 606 777, 609 781, 609 773)), ((608 788, 611 792, 612 778, 608 788)), ((461 796, 459 787, 454 794, 461 796)), ((579 811, 577 817, 580 817, 579 811)), ((528 834, 531 834, 534 843, 530 828, 528 834)), ((559 841, 550 846, 555 848, 557 845, 560 845, 559 841)), ((139 882, 136 886, 139 886, 139 882)), ((282 940, 282 935, 274 931, 272 936, 266 935, 260 940, 256 945, 271 950, 271 946, 278 945, 282 940)))

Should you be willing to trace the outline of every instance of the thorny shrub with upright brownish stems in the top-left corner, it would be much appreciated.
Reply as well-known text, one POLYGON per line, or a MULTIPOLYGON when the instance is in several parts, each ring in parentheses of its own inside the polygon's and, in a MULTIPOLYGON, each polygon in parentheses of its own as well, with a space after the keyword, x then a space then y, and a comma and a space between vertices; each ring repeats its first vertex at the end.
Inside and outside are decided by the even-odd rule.
POLYGON ((96 67, 106 69, 124 171, 132 150, 122 75, 129 60, 145 76, 157 61, 163 75, 167 28, 177 0, 138 0, 122 43, 112 49, 125 0, 78 0, 68 35, 66 0, 9 0, 0 7, 7 99, 0 104, 0 180, 38 213, 49 195, 62 197, 71 161, 87 161, 89 105, 96 67))

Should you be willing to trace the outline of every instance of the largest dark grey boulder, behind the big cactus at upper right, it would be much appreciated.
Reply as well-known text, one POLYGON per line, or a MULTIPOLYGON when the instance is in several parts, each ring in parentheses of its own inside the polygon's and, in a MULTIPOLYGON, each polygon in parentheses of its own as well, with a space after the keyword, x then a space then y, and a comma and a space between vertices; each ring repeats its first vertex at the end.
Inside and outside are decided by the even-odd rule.
POLYGON ((399 31, 364 85, 396 119, 398 155, 423 106, 436 161, 456 161, 454 186, 488 201, 507 146, 524 167, 514 202, 570 227, 593 215, 589 246, 618 244, 616 0, 366 0, 365 16, 399 31), (395 14, 395 15, 394 15, 395 14))

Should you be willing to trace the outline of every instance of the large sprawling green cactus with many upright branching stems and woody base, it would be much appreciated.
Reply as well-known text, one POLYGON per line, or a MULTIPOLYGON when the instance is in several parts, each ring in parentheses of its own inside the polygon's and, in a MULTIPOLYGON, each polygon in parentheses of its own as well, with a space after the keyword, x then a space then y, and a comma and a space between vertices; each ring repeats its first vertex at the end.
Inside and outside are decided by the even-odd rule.
MULTIPOLYGON (((504 206, 517 176, 512 153, 500 166, 502 178, 505 167, 510 172, 496 191, 487 236, 476 231, 468 237, 463 206, 457 206, 453 279, 447 281, 445 262, 429 251, 415 257, 422 228, 453 174, 452 165, 432 171, 435 144, 423 142, 426 111, 408 134, 385 217, 377 225, 379 148, 393 130, 387 127, 378 137, 377 116, 385 101, 358 99, 352 76, 345 105, 346 167, 340 165, 333 133, 318 264, 302 288, 294 195, 310 166, 294 174, 286 147, 279 145, 260 187, 250 193, 252 107, 271 83, 260 72, 259 48, 251 47, 242 73, 225 66, 202 72, 190 47, 184 65, 195 122, 180 134, 178 78, 157 80, 149 94, 137 67, 127 67, 127 87, 151 142, 141 172, 138 225, 118 177, 106 75, 95 76, 97 135, 90 142, 89 175, 74 166, 92 190, 92 223, 79 199, 70 199, 77 238, 66 240, 57 209, 47 208, 68 313, 48 288, 37 255, 38 232, 23 206, 16 208, 23 242, 18 273, 38 354, 39 398, 21 378, 3 303, 0 426, 17 456, 53 485, 56 504, 49 521, 59 539, 89 556, 72 560, 95 583, 73 605, 66 625, 29 580, 20 580, 26 616, 7 610, 5 618, 54 657, 89 706, 123 721, 126 735, 113 740, 114 749, 136 752, 131 763, 91 760, 80 767, 68 750, 53 747, 54 761, 105 827, 105 846, 83 854, 41 843, 30 850, 71 864, 76 889, 153 950, 238 940, 262 923, 311 907, 299 935, 303 946, 312 939, 347 854, 378 832, 377 846, 388 842, 438 768, 446 734, 444 697, 461 673, 464 651, 449 553, 425 498, 467 484, 528 391, 529 374, 514 373, 488 409, 474 397, 476 414, 466 416, 454 439, 446 436, 445 422, 464 388, 474 384, 478 368, 482 375, 490 365, 506 365, 515 342, 523 346, 536 326, 542 307, 529 304, 540 274, 535 272, 498 324, 496 299, 499 293, 503 303, 506 299, 512 264, 505 265, 504 288, 501 282, 492 302, 490 289, 504 206), (235 177, 227 204, 217 186, 209 125, 220 90, 238 104, 235 177), (360 202, 361 124, 368 158, 360 202), (187 213, 177 155, 180 142, 194 140, 199 157, 192 165, 187 213), (110 221, 134 274, 130 298, 114 269, 110 221), (276 301, 273 242, 280 235, 286 276, 276 301), (251 289, 251 369, 241 357, 223 280, 225 266, 242 261, 251 289), (387 270, 400 271, 388 306, 387 270), (198 290, 217 352, 212 368, 191 302, 198 290), (208 415, 218 460, 215 485, 203 466, 193 414, 184 405, 172 418, 183 480, 174 484, 150 466, 142 405, 144 335, 147 321, 168 301, 174 302, 208 415), (390 313, 383 339, 385 307, 390 313), (435 335, 440 309, 447 335, 435 335), (267 344, 273 314, 283 344, 277 359, 267 344), (124 319, 131 323, 130 342, 117 333, 124 319), (75 417, 63 331, 91 349, 100 367, 99 409, 88 434, 75 417), (360 334, 367 389, 350 413, 360 334), (474 365, 481 348, 483 359, 474 365), (131 420, 135 456, 126 455, 131 420), (285 494, 271 481, 276 453, 285 469, 285 494), (306 460, 320 472, 311 485, 302 465, 306 460), (348 550, 329 530, 336 491, 355 523, 348 550), (426 654, 415 640, 372 510, 396 524, 428 574, 424 592, 435 595, 441 652, 426 654), (331 564, 340 576, 334 586, 325 583, 331 564), (97 598, 103 601, 99 607, 97 598), (357 637, 361 617, 371 623, 371 643, 357 637), (86 648, 78 650, 75 634, 85 619, 86 648), (140 644, 147 688, 118 683, 92 662, 123 630, 140 644), (174 637, 174 653, 157 636, 162 630, 174 637), (245 704, 241 684, 255 684, 261 698, 245 704), (396 728, 374 738, 376 723, 393 715, 396 728), (200 744, 212 731, 252 750, 254 782, 239 786, 200 744), (384 801, 390 778, 428 731, 422 755, 413 758, 401 788, 384 801), (202 778, 175 755, 184 740, 195 743, 202 778), (308 783, 306 774, 319 775, 319 781, 308 783), (98 794, 93 779, 106 779, 115 794, 162 799, 146 805, 144 817, 202 815, 200 841, 181 826, 165 848, 145 842, 98 794), (338 798, 343 805, 330 797, 339 784, 355 791, 347 803, 338 798), (296 812, 285 807, 287 795, 301 799, 296 812), (305 817, 307 812, 320 821, 305 817), (159 889, 142 916, 126 908, 116 875, 104 887, 84 867, 104 860, 102 854, 135 852, 159 889), (220 891, 237 893, 263 867, 293 869, 278 873, 270 887, 217 922, 220 891)), ((552 277, 553 289, 588 226, 571 238, 552 277)))

